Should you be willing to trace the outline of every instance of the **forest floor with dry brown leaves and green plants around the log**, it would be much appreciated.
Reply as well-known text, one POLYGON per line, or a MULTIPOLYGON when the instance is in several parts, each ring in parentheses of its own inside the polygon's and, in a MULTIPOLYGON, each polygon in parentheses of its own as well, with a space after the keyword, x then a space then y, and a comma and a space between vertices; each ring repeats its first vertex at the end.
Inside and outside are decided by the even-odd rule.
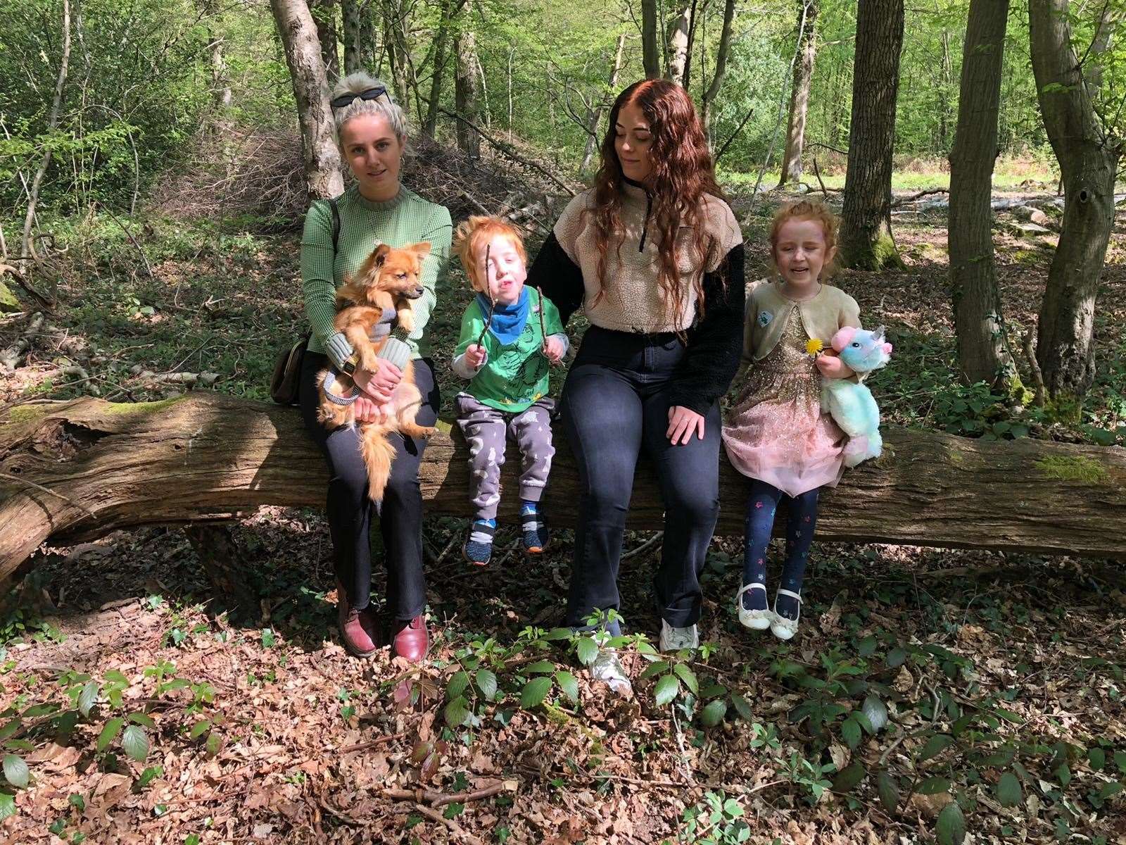
MULTIPOLYGON (((752 208, 734 193, 757 278, 781 197, 752 208)), ((1021 357, 1054 235, 1017 237, 999 216, 1021 357)), ((1097 382, 1066 419, 956 383, 945 213, 895 223, 904 269, 838 277, 895 344, 869 382, 890 425, 1123 443, 1126 215, 1099 295, 1097 382)), ((213 372, 216 390, 265 398, 302 310, 292 231, 151 220, 134 243, 108 221, 74 226, 55 276, 64 306, 0 403, 159 398, 144 370, 213 372), (75 363, 88 377, 64 374, 75 363)), ((431 323, 447 398, 467 302, 455 272, 431 323)), ((26 322, 0 320, 0 347, 26 322)), ((230 612, 178 530, 43 550, 0 617, 3 767, 28 781, 0 790, 0 843, 900 845, 963 829, 972 843, 1126 843, 1120 564, 815 543, 803 624, 781 643, 739 625, 742 544, 717 539, 706 644, 658 660, 659 546, 629 533, 623 699, 589 683, 581 639, 552 633, 570 533, 524 560, 504 526, 494 562, 474 568, 463 532, 423 528, 435 642, 421 669, 340 647, 316 510, 234 526, 233 563, 260 602, 230 612)))

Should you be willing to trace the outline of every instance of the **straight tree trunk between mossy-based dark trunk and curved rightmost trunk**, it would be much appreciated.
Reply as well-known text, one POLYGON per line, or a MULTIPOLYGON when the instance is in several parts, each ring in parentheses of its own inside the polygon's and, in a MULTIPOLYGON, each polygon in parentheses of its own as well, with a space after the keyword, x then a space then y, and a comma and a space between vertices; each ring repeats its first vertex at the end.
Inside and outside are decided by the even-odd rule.
POLYGON ((962 56, 958 125, 950 152, 950 294, 958 366, 968 384, 1000 386, 1012 373, 1004 347, 990 208, 1009 0, 972 0, 962 56))

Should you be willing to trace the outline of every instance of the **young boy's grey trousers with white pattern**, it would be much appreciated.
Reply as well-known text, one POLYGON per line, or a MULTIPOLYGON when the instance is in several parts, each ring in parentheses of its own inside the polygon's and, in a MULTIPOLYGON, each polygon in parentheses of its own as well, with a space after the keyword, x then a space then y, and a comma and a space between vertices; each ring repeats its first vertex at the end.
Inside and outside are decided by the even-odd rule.
POLYGON ((520 447, 520 498, 539 501, 552 469, 552 410, 555 401, 544 397, 519 413, 482 404, 468 393, 454 400, 457 425, 470 445, 470 496, 479 519, 497 518, 500 504, 500 468, 511 435, 520 447))

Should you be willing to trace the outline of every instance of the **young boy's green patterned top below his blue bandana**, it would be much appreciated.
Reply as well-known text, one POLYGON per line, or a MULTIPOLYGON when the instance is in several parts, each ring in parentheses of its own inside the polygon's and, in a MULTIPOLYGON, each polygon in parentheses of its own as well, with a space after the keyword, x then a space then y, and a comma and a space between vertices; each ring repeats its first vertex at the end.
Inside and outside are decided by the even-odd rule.
MULTIPOLYGON (((482 404, 501 411, 520 412, 533 402, 547 395, 547 357, 540 352, 544 332, 547 336, 563 332, 563 321, 555 304, 539 292, 529 287, 528 319, 524 331, 511 344, 500 343, 491 331, 486 331, 482 346, 488 358, 477 374, 470 380, 466 392, 482 404), (544 328, 539 328, 539 308, 544 309, 544 328)), ((477 343, 489 319, 474 297, 462 315, 462 333, 457 338, 454 357, 465 353, 471 344, 477 343)))

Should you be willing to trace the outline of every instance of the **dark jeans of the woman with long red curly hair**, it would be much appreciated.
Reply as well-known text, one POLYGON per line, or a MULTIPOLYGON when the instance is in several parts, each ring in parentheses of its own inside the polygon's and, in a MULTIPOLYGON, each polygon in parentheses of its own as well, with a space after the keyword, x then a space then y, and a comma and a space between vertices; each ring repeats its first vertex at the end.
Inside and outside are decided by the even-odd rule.
POLYGON ((664 544, 653 579, 661 616, 676 628, 700 615, 699 575, 720 514, 720 407, 704 439, 673 446, 669 377, 685 348, 672 335, 591 327, 563 388, 563 422, 579 470, 579 527, 568 596, 569 625, 618 608, 618 561, 634 468, 652 460, 664 501, 664 544))

